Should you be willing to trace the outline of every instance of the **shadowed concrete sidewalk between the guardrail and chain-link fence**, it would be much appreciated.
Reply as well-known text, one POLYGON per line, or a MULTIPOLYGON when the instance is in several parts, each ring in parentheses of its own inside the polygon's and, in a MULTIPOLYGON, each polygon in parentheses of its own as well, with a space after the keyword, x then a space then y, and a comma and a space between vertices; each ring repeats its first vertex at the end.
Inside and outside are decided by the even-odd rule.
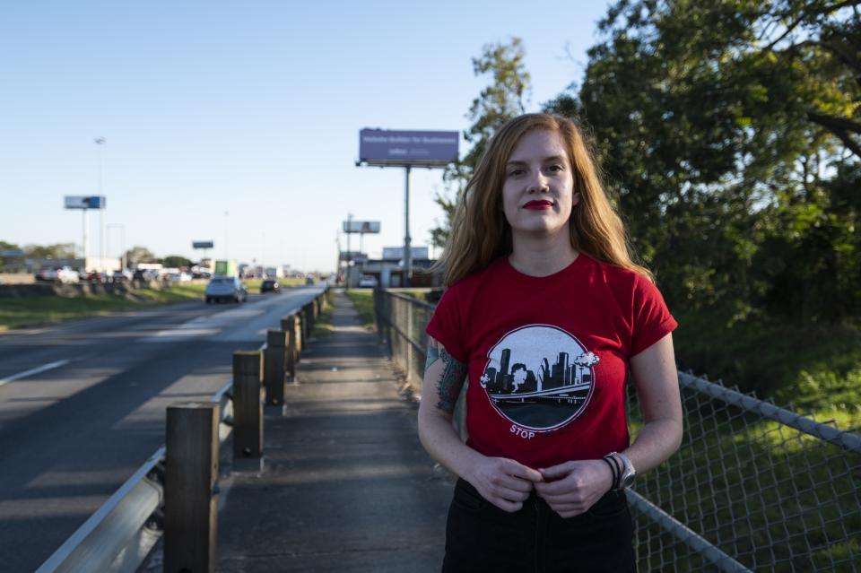
POLYGON ((376 334, 335 294, 334 334, 310 340, 283 412, 265 411, 262 473, 222 488, 219 571, 439 571, 451 484, 376 334))

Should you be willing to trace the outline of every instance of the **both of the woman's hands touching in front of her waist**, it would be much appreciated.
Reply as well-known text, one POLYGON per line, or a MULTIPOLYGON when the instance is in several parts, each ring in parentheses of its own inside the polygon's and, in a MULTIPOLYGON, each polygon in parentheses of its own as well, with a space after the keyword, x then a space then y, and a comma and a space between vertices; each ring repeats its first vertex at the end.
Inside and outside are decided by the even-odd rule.
POLYGON ((601 498, 613 485, 613 474, 602 460, 580 460, 535 470, 504 457, 485 457, 468 480, 484 499, 504 511, 523 508, 535 493, 561 517, 574 517, 601 498))

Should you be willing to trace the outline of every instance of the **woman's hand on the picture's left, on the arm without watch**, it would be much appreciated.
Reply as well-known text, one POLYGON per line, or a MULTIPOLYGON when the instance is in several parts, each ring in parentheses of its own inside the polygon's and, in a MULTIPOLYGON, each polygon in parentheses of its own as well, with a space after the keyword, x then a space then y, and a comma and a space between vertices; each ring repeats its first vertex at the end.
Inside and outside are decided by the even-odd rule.
POLYGON ((523 507, 535 482, 542 482, 540 472, 505 457, 482 456, 472 472, 464 476, 484 499, 497 508, 513 513, 523 507))

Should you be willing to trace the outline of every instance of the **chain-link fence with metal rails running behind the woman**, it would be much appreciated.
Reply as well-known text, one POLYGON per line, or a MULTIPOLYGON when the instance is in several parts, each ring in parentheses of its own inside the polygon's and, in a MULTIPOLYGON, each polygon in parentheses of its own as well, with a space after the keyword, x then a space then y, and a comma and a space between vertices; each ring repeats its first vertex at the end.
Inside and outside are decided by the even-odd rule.
MULTIPOLYGON (((379 334, 418 391, 433 306, 382 290, 374 297, 379 334)), ((639 569, 861 571, 858 429, 690 374, 679 386, 682 447, 628 494, 639 569)), ((628 405, 635 436, 633 391, 628 405)))

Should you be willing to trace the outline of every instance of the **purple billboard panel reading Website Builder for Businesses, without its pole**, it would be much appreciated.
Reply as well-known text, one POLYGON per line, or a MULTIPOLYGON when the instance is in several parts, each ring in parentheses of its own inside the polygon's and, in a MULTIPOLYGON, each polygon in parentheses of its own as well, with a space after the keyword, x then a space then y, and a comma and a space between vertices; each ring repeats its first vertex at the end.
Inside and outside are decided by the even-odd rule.
POLYGON ((362 129, 359 132, 359 163, 445 167, 457 161, 459 140, 457 131, 362 129))

